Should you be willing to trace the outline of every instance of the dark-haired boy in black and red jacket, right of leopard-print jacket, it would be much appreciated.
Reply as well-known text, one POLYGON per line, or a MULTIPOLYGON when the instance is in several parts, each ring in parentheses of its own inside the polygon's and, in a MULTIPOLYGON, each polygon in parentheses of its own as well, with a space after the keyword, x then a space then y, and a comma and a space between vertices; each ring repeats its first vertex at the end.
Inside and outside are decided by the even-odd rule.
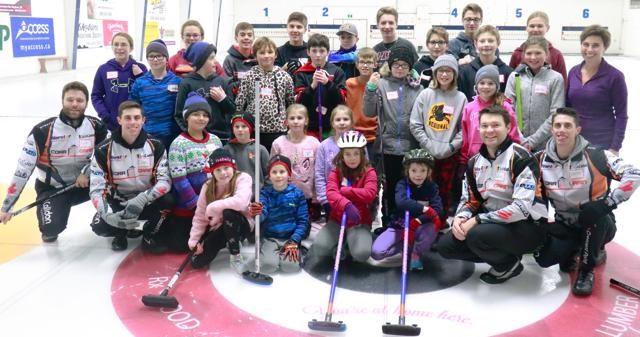
POLYGON ((326 137, 320 134, 320 129, 327 135, 329 133, 330 125, 326 114, 338 104, 344 103, 345 81, 347 79, 342 69, 332 63, 327 63, 328 37, 322 34, 312 35, 309 38, 307 52, 310 58, 309 62, 298 69, 295 74, 296 102, 304 105, 313 116, 307 133, 322 141, 326 137))

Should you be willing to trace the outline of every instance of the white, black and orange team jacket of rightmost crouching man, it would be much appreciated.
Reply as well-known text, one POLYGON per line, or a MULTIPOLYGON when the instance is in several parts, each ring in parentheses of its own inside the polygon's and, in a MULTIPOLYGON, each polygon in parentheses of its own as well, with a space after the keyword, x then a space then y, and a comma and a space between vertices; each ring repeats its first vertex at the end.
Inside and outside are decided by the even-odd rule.
POLYGON ((569 226, 578 226, 580 205, 607 196, 619 204, 640 186, 638 169, 609 151, 596 149, 580 135, 566 159, 558 157, 553 139, 536 156, 540 161, 542 191, 555 208, 556 219, 569 226), (613 190, 611 179, 620 182, 613 190))

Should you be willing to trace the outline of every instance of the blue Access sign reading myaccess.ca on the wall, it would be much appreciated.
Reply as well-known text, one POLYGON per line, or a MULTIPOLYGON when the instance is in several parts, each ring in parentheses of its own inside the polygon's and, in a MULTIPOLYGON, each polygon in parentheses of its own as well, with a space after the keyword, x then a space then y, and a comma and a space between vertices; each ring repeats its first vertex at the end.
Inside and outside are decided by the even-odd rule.
POLYGON ((13 57, 55 55, 52 18, 12 17, 13 57))

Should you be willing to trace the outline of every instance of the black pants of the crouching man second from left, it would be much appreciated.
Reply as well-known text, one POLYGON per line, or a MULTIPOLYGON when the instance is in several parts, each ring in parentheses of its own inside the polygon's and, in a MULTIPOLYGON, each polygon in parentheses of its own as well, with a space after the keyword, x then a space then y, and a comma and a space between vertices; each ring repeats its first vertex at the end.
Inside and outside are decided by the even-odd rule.
MULTIPOLYGON (((124 209, 124 207, 120 205, 120 202, 116 200, 108 199, 107 202, 114 212, 119 212, 124 209)), ((166 215, 169 214, 174 204, 174 197, 171 195, 171 193, 167 193, 144 207, 138 219, 147 220, 147 222, 145 222, 144 226, 142 227, 143 235, 145 237, 154 237, 160 232, 161 227, 166 222, 166 215), (162 223, 160 223, 161 219, 162 223)), ((93 216, 93 221, 91 221, 91 229, 97 235, 107 237, 125 236, 127 235, 128 231, 125 228, 117 228, 109 225, 98 215, 98 213, 93 216)))

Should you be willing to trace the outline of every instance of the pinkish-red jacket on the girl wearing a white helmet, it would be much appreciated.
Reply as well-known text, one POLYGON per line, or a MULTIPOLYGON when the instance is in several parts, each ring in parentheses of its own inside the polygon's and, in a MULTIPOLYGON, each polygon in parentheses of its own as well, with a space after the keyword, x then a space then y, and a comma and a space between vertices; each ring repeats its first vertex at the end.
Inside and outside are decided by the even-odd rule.
MULTIPOLYGON (((342 213, 351 202, 360 211, 360 223, 371 225, 371 204, 378 192, 378 176, 376 171, 369 167, 360 179, 351 182, 351 186, 341 186, 338 170, 334 169, 329 174, 327 182, 327 199, 331 205, 329 218, 340 223, 342 213)), ((353 225, 353 224, 352 224, 353 225)))

